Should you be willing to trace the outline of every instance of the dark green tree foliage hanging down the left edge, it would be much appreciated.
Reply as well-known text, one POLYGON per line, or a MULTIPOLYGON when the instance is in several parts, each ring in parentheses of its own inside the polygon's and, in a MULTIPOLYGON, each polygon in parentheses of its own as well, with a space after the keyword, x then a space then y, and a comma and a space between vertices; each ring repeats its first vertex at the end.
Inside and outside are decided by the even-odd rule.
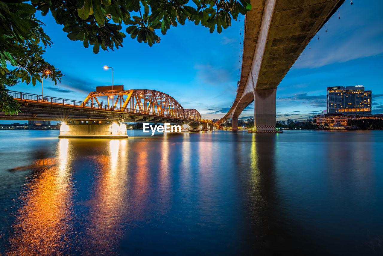
POLYGON ((41 28, 43 23, 34 16, 36 9, 24 2, 0 1, 0 111, 6 115, 20 112, 20 104, 8 95, 6 86, 20 80, 35 85, 48 76, 57 84, 62 76, 43 59, 43 47, 51 41, 41 28))

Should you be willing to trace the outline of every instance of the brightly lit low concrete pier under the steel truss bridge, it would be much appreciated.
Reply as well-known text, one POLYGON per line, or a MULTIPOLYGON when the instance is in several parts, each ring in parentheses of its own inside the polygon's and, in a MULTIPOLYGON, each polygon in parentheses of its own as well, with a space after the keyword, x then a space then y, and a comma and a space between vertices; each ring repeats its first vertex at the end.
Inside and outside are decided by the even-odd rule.
POLYGON ((85 124, 74 122, 60 127, 59 138, 108 138, 122 139, 128 138, 126 134, 126 124, 110 122, 108 124, 85 124))

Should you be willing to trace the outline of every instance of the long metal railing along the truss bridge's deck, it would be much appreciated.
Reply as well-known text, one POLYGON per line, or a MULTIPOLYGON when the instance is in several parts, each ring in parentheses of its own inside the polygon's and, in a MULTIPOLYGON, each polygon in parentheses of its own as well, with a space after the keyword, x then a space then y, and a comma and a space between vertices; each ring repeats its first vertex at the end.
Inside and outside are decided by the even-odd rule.
POLYGON ((183 119, 183 120, 189 120, 189 121, 199 121, 199 122, 206 122, 206 120, 194 120, 194 119, 185 119, 181 117, 177 117, 175 115, 161 115, 158 112, 151 112, 151 111, 140 111, 137 109, 121 109, 120 107, 112 107, 105 104, 98 104, 98 103, 92 103, 92 102, 83 102, 83 101, 75 101, 72 99, 62 99, 62 98, 56 98, 56 97, 50 97, 50 96, 43 96, 38 94, 31 94, 31 93, 25 93, 25 92, 16 92, 16 91, 8 91, 8 94, 12 96, 14 99, 20 100, 20 101, 33 101, 33 102, 41 102, 41 103, 47 103, 47 104, 53 104, 53 105, 61 105, 61 106, 70 106, 70 107, 82 107, 82 108, 90 108, 90 109, 99 109, 99 110, 108 110, 108 111, 119 111, 119 112, 128 112, 128 113, 134 113, 138 115, 151 115, 151 116, 158 116, 158 117, 168 117, 168 118, 177 118, 177 119, 183 119))

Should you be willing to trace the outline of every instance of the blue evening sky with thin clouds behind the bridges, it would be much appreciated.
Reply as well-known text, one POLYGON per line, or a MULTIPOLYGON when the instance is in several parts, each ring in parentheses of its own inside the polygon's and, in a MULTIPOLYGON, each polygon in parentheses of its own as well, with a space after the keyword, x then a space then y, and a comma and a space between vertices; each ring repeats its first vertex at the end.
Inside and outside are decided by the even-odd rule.
MULTIPOLYGON (((326 109, 327 86, 362 84, 373 92, 373 114, 383 112, 383 3, 348 0, 326 23, 277 89, 277 120, 309 117, 326 109)), ((65 75, 54 86, 44 81, 44 95, 82 101, 96 86, 155 89, 174 97, 184 108, 195 108, 205 119, 221 118, 231 107, 240 70, 244 17, 221 34, 186 22, 170 28, 152 47, 129 36, 123 48, 96 55, 92 47, 71 41, 48 14, 38 15, 51 37, 44 58, 65 75)), ((124 30, 123 30, 124 31, 124 30)), ((14 91, 41 94, 41 84, 18 84, 14 91)), ((240 117, 254 116, 250 104, 240 117)), ((1 121, 9 123, 14 121, 1 121)))

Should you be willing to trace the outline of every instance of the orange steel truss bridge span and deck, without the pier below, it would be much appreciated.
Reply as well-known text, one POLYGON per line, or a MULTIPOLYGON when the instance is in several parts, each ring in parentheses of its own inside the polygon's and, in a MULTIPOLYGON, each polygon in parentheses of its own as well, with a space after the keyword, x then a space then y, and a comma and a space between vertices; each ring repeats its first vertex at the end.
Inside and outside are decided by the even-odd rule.
POLYGON ((154 90, 90 92, 84 101, 16 91, 9 91, 8 94, 21 104, 21 113, 6 116, 4 112, 0 112, 2 120, 86 120, 213 125, 211 120, 202 119, 196 109, 184 109, 173 97, 154 90), (105 104, 101 103, 101 99, 106 101, 105 104), (112 102, 112 99, 115 101, 112 102))

